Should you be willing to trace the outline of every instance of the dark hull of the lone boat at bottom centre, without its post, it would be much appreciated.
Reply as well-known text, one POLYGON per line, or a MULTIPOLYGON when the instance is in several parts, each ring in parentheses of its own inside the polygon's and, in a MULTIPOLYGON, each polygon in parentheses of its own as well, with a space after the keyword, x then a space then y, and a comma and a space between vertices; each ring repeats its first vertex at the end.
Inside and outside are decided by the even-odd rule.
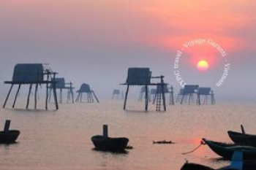
POLYGON ((126 137, 112 138, 97 135, 91 137, 91 142, 94 143, 96 150, 124 151, 129 139, 126 137))

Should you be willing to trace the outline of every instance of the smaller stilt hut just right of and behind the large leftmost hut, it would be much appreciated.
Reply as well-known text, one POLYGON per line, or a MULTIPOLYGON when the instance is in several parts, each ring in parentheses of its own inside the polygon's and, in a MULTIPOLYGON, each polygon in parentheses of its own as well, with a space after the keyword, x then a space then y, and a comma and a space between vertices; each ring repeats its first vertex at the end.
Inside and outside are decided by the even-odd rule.
MULTIPOLYGON (((56 90, 59 89, 59 103, 62 104, 62 90, 67 90, 67 103, 72 100, 72 103, 74 103, 74 93, 72 87, 72 82, 65 82, 64 77, 57 77, 56 78, 56 90)), ((51 92, 53 90, 52 86, 49 87, 49 102, 51 98, 51 92)))

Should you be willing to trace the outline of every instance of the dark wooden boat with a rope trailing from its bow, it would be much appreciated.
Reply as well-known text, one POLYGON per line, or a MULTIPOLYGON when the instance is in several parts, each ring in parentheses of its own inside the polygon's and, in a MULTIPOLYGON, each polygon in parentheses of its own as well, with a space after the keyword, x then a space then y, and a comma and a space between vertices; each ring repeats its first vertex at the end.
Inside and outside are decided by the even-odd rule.
POLYGON ((240 146, 236 144, 225 144, 222 142, 213 142, 203 138, 208 147, 211 148, 217 155, 222 156, 225 159, 231 160, 233 152, 243 152, 244 159, 250 160, 256 158, 256 147, 240 146))

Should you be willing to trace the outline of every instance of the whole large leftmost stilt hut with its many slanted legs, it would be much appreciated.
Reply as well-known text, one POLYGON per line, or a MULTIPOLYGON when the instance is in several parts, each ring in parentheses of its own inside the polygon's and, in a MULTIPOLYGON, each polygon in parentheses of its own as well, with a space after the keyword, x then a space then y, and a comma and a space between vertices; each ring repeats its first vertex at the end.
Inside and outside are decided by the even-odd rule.
POLYGON ((5 81, 4 84, 11 84, 7 98, 4 101, 3 108, 7 104, 7 100, 12 91, 13 85, 18 85, 18 90, 15 94, 15 99, 12 104, 12 108, 15 107, 15 102, 18 97, 21 85, 29 85, 29 95, 27 98, 26 109, 29 108, 29 97, 31 95, 32 86, 35 85, 34 90, 34 109, 37 109, 37 90, 38 85, 46 85, 46 100, 45 109, 48 109, 48 85, 53 87, 53 96, 56 104, 56 109, 59 109, 57 96, 56 96, 56 72, 52 72, 50 68, 44 67, 42 63, 18 63, 15 65, 15 69, 12 76, 12 81, 5 81), (45 80, 46 76, 46 80, 45 80))

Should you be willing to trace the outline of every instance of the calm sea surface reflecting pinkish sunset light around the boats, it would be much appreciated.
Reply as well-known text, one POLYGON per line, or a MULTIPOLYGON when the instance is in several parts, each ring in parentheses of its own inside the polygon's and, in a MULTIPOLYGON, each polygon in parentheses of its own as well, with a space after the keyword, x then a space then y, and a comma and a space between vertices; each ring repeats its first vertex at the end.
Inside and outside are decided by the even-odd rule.
MULTIPOLYGON (((1 98, 1 107, 3 98, 1 98)), ((11 107, 11 101, 7 108, 11 107)), ((102 101, 100 104, 60 104, 58 111, 1 109, 0 123, 11 119, 11 128, 20 130, 17 144, 0 145, 0 169, 171 169, 178 170, 186 160, 218 168, 228 161, 207 146, 189 155, 200 139, 230 142, 227 130, 256 134, 256 104, 219 103, 215 105, 167 105, 167 112, 142 112, 144 104, 128 101, 102 101), (94 151, 91 136, 102 134, 108 124, 109 136, 126 136, 133 150, 127 154, 94 151), (176 144, 152 144, 152 140, 172 140, 176 144)), ((33 108, 33 106, 31 106, 33 108)), ((39 106, 43 108, 43 106, 39 106)))

